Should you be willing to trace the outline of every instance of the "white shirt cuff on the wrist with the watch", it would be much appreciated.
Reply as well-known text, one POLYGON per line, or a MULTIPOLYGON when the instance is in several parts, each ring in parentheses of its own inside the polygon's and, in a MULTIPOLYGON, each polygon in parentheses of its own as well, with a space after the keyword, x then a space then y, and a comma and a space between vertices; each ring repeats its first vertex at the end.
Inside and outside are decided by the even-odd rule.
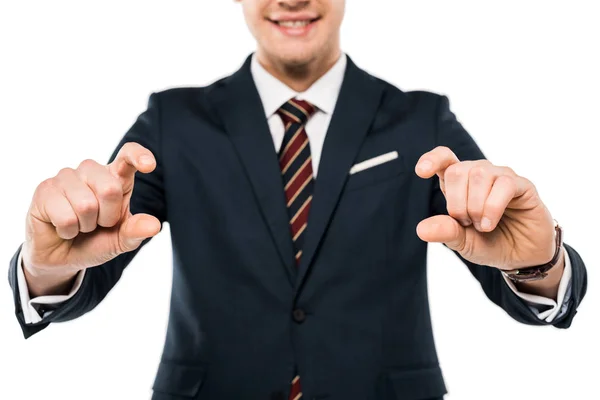
POLYGON ((551 323, 556 318, 560 318, 567 312, 569 300, 571 299, 571 260, 569 252, 564 248, 565 253, 565 269, 563 276, 558 285, 558 294, 556 301, 548 297, 538 296, 535 294, 520 292, 514 282, 502 274, 504 281, 508 287, 521 299, 527 303, 531 311, 541 320, 551 323))

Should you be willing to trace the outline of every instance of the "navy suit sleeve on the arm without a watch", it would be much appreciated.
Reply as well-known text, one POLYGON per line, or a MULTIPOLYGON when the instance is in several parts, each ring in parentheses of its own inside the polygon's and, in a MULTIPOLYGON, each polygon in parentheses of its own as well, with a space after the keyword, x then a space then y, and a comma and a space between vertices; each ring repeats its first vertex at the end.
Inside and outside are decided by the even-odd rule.
MULTIPOLYGON (((163 186, 160 125, 161 115, 159 96, 157 94, 152 94, 148 101, 148 109, 137 118, 133 126, 123 136, 109 158, 109 163, 115 159, 120 148, 127 142, 137 142, 154 154, 157 162, 156 169, 149 174, 136 173, 130 200, 130 210, 132 214, 151 214, 163 223, 167 220, 167 214, 163 186)), ((34 324, 25 323, 22 308, 25 305, 20 303, 17 283, 17 268, 19 267, 17 261, 21 251, 21 247, 19 247, 10 261, 8 280, 13 290, 15 314, 25 338, 41 331, 52 322, 69 321, 94 309, 115 286, 121 278, 123 270, 131 262, 133 257, 150 240, 151 238, 144 240, 134 251, 121 254, 105 264, 87 269, 81 287, 77 293, 69 300, 61 303, 50 315, 34 324)))

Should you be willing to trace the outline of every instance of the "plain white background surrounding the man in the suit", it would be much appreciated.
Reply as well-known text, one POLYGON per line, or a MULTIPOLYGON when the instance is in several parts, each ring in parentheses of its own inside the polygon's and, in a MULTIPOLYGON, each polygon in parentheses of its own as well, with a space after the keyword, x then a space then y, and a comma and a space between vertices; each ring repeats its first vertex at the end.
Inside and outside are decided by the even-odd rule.
MULTIPOLYGON (((447 94, 486 156, 532 180, 589 293, 569 330, 520 325, 458 258, 430 246, 430 296, 449 400, 597 393, 599 14, 594 1, 351 1, 343 49, 405 90, 447 94)), ((24 239, 37 184, 106 162, 148 95, 206 85, 253 50, 233 1, 0 3, 0 260, 24 239)), ((169 227, 92 313, 25 341, 0 282, 0 399, 147 399, 165 335, 169 227)), ((3 268, 2 270, 6 271, 3 268)))

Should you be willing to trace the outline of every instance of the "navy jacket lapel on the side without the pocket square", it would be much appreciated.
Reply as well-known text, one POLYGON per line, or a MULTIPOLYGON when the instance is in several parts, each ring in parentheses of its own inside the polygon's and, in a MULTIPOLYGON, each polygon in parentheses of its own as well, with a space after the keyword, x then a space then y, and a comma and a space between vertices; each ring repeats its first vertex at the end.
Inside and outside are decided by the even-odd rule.
POLYGON ((254 189, 290 284, 297 275, 289 217, 277 153, 248 57, 242 68, 221 82, 211 94, 254 189))

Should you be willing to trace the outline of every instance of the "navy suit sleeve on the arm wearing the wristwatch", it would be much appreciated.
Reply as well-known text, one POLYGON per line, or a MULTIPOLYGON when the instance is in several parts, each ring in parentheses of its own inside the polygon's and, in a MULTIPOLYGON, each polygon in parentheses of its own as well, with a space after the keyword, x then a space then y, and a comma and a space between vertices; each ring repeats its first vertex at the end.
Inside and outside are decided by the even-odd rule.
MULTIPOLYGON (((449 147, 459 160, 479 160, 486 158, 473 138, 463 128, 450 110, 448 98, 439 97, 437 105, 437 133, 436 145, 449 147)), ((433 178, 433 191, 431 197, 431 215, 446 214, 446 199, 440 189, 439 179, 433 178)), ((477 265, 454 251, 454 253, 469 268, 473 276, 479 281, 486 296, 495 304, 502 307, 515 320, 530 325, 554 325, 557 328, 568 328, 577 313, 577 307, 585 296, 587 289, 587 273, 585 265, 579 254, 568 244, 564 243, 571 260, 572 267, 572 292, 567 305, 567 311, 552 322, 538 318, 531 308, 519 298, 504 282, 501 272, 493 267, 477 265)))

